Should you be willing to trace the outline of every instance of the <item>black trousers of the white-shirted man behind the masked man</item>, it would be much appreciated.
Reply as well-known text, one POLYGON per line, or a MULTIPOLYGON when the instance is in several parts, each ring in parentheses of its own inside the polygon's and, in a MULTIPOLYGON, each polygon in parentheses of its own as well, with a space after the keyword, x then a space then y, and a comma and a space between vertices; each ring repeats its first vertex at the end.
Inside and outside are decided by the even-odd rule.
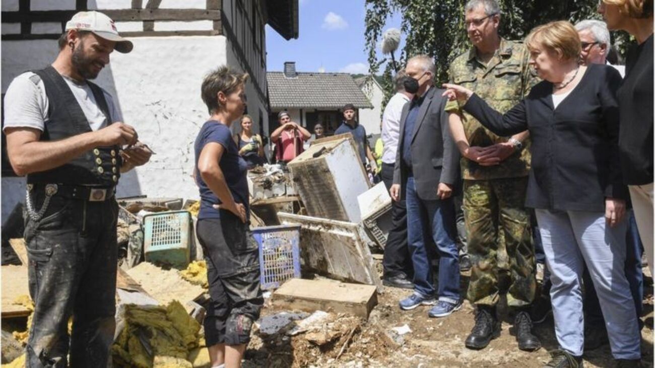
MULTIPOLYGON (((394 183, 394 164, 382 163, 382 180, 388 191, 394 183)), ((393 201, 391 208, 391 229, 384 246, 382 261, 384 277, 405 275, 411 280, 414 270, 407 248, 407 208, 405 198, 393 201)))

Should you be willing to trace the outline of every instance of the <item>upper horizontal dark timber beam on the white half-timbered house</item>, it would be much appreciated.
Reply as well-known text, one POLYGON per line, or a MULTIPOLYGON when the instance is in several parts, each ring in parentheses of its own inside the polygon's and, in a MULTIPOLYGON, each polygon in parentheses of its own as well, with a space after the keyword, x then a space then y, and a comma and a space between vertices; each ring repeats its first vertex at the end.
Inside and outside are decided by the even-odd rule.
MULTIPOLYGON (((48 10, 31 12, 2 12, 3 22, 65 22, 75 14, 76 10, 48 10)), ((138 20, 220 20, 220 10, 204 9, 115 9, 103 10, 109 18, 115 21, 138 20)))

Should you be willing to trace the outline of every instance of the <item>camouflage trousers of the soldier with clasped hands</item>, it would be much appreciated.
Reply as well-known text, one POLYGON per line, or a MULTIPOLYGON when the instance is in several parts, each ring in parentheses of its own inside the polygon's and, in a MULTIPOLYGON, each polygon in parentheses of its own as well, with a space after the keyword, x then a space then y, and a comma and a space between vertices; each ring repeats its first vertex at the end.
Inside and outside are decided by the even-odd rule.
POLYGON ((464 219, 473 266, 467 293, 471 303, 498 303, 502 244, 511 280, 508 306, 527 306, 534 300, 534 247, 530 215, 524 207, 526 189, 527 177, 464 180, 464 219))

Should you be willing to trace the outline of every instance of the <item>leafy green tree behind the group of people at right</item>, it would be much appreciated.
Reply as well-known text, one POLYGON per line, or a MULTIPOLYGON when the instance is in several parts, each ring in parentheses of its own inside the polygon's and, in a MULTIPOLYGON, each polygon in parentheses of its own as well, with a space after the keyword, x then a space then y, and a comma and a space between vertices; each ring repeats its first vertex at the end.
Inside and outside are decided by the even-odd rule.
MULTIPOLYGON (((584 19, 600 19, 596 12, 598 0, 498 0, 500 35, 506 39, 523 39, 534 27, 553 20, 569 20, 572 23, 584 19)), ((450 62, 470 47, 464 28, 464 6, 466 0, 366 0, 365 39, 368 52, 369 73, 378 75, 387 61, 379 57, 386 20, 399 12, 402 14, 400 30, 405 38, 405 47, 397 57, 398 65, 404 65, 407 56, 428 54, 434 58, 436 82, 447 81, 450 62)), ((629 44, 627 33, 612 35, 619 54, 625 53, 629 44)), ((398 55, 398 54, 396 54, 398 55)), ((382 71, 386 98, 394 93, 391 63, 382 71)))

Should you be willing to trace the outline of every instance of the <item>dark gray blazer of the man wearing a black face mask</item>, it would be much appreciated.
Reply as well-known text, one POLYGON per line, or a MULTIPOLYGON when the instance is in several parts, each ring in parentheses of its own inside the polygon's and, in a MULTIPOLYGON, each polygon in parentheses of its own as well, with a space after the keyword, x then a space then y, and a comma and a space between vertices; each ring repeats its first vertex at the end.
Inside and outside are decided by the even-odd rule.
MULTIPOLYGON (((450 134, 448 114, 445 111, 446 98, 441 97, 443 90, 431 87, 426 92, 425 100, 419 109, 411 139, 412 171, 417 194, 422 200, 437 200, 439 183, 457 187, 459 179, 459 151, 450 134)), ((405 103, 400 117, 400 135, 394 184, 401 185, 401 196, 405 197, 407 167, 403 160, 403 137, 405 121, 412 102, 405 103)))

